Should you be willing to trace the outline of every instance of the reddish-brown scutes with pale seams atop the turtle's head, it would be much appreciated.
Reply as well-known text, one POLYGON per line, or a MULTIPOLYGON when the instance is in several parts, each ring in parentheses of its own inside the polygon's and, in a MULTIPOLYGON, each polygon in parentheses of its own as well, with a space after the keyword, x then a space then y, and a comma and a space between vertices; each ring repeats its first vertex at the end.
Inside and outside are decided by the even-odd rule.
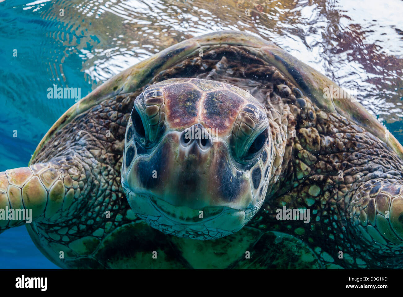
POLYGON ((261 107, 241 88, 210 80, 173 78, 149 88, 146 92, 154 95, 158 92, 158 98, 164 98, 166 124, 173 129, 200 123, 206 128, 215 128, 218 136, 226 136, 245 105, 253 103, 261 107))

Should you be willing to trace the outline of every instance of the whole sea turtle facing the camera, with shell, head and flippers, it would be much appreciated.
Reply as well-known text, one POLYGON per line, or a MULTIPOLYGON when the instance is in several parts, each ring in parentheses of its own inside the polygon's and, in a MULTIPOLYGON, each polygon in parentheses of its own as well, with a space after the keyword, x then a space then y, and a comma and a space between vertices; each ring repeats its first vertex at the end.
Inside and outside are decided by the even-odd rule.
POLYGON ((339 91, 251 34, 185 40, 0 173, 0 216, 62 268, 401 268, 403 147, 339 91))

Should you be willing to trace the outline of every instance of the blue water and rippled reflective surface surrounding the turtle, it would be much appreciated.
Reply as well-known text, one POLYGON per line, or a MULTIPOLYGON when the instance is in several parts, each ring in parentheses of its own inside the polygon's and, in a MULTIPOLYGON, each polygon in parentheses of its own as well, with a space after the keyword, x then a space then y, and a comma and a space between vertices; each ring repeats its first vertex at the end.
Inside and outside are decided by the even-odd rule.
MULTIPOLYGON (((75 103, 48 99, 54 84, 84 97, 172 44, 224 29, 271 40, 357 90, 403 143, 402 13, 402 0, 0 0, 0 172, 27 166, 75 103)), ((58 267, 21 226, 0 234, 4 268, 58 267)))

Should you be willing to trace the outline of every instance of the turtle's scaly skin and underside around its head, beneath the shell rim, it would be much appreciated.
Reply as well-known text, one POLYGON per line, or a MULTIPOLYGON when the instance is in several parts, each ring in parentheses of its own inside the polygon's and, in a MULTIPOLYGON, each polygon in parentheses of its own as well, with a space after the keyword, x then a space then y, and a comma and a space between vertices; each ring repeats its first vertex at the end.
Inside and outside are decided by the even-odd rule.
MULTIPOLYGON (((204 242, 177 238, 154 230, 131 211, 120 185, 123 142, 133 101, 146 86, 110 97, 63 126, 30 169, 0 173, 1 207, 8 201, 15 208, 21 206, 18 201, 35 206, 29 233, 63 268, 401 267, 395 253, 401 252, 403 236, 402 160, 337 112, 320 110, 274 67, 248 60, 253 56, 244 50, 224 46, 150 81, 189 77, 191 69, 193 77, 250 90, 265 105, 275 152, 273 178, 264 205, 239 232, 204 242), (64 170, 55 176, 51 168, 64 170), (65 194, 61 188, 52 192, 62 182, 65 194), (30 200, 24 193, 31 184, 37 193, 43 185, 46 194, 30 200), (17 190, 14 185, 23 189, 19 200, 10 194, 17 190), (283 206, 309 208, 310 222, 276 220, 276 209, 283 206), (383 219, 386 210, 390 223, 383 219)), ((0 230, 13 223, 21 224, 2 222, 0 230)))

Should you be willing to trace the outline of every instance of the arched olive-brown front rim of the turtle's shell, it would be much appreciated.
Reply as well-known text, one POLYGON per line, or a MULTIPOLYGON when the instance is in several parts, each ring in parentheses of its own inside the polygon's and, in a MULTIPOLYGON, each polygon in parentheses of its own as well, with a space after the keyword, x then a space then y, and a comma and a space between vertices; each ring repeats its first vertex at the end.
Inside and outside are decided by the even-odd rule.
POLYGON ((104 84, 70 107, 50 128, 39 142, 31 161, 42 150, 49 139, 63 126, 89 110, 94 105, 110 99, 116 95, 131 93, 147 84, 156 74, 189 57, 199 55, 201 50, 210 51, 222 45, 235 45, 247 47, 249 53, 274 65, 280 72, 290 79, 309 97, 319 108, 326 112, 338 112, 345 118, 352 120, 365 128, 373 135, 384 141, 388 147, 403 158, 403 147, 397 139, 388 133, 386 128, 372 116, 360 103, 350 99, 336 99, 333 94, 325 98, 325 88, 339 88, 326 76, 320 74, 312 67, 299 61, 274 43, 263 40, 252 34, 236 31, 221 31, 191 38, 174 44, 165 50, 153 55, 136 65, 120 72, 104 84))

